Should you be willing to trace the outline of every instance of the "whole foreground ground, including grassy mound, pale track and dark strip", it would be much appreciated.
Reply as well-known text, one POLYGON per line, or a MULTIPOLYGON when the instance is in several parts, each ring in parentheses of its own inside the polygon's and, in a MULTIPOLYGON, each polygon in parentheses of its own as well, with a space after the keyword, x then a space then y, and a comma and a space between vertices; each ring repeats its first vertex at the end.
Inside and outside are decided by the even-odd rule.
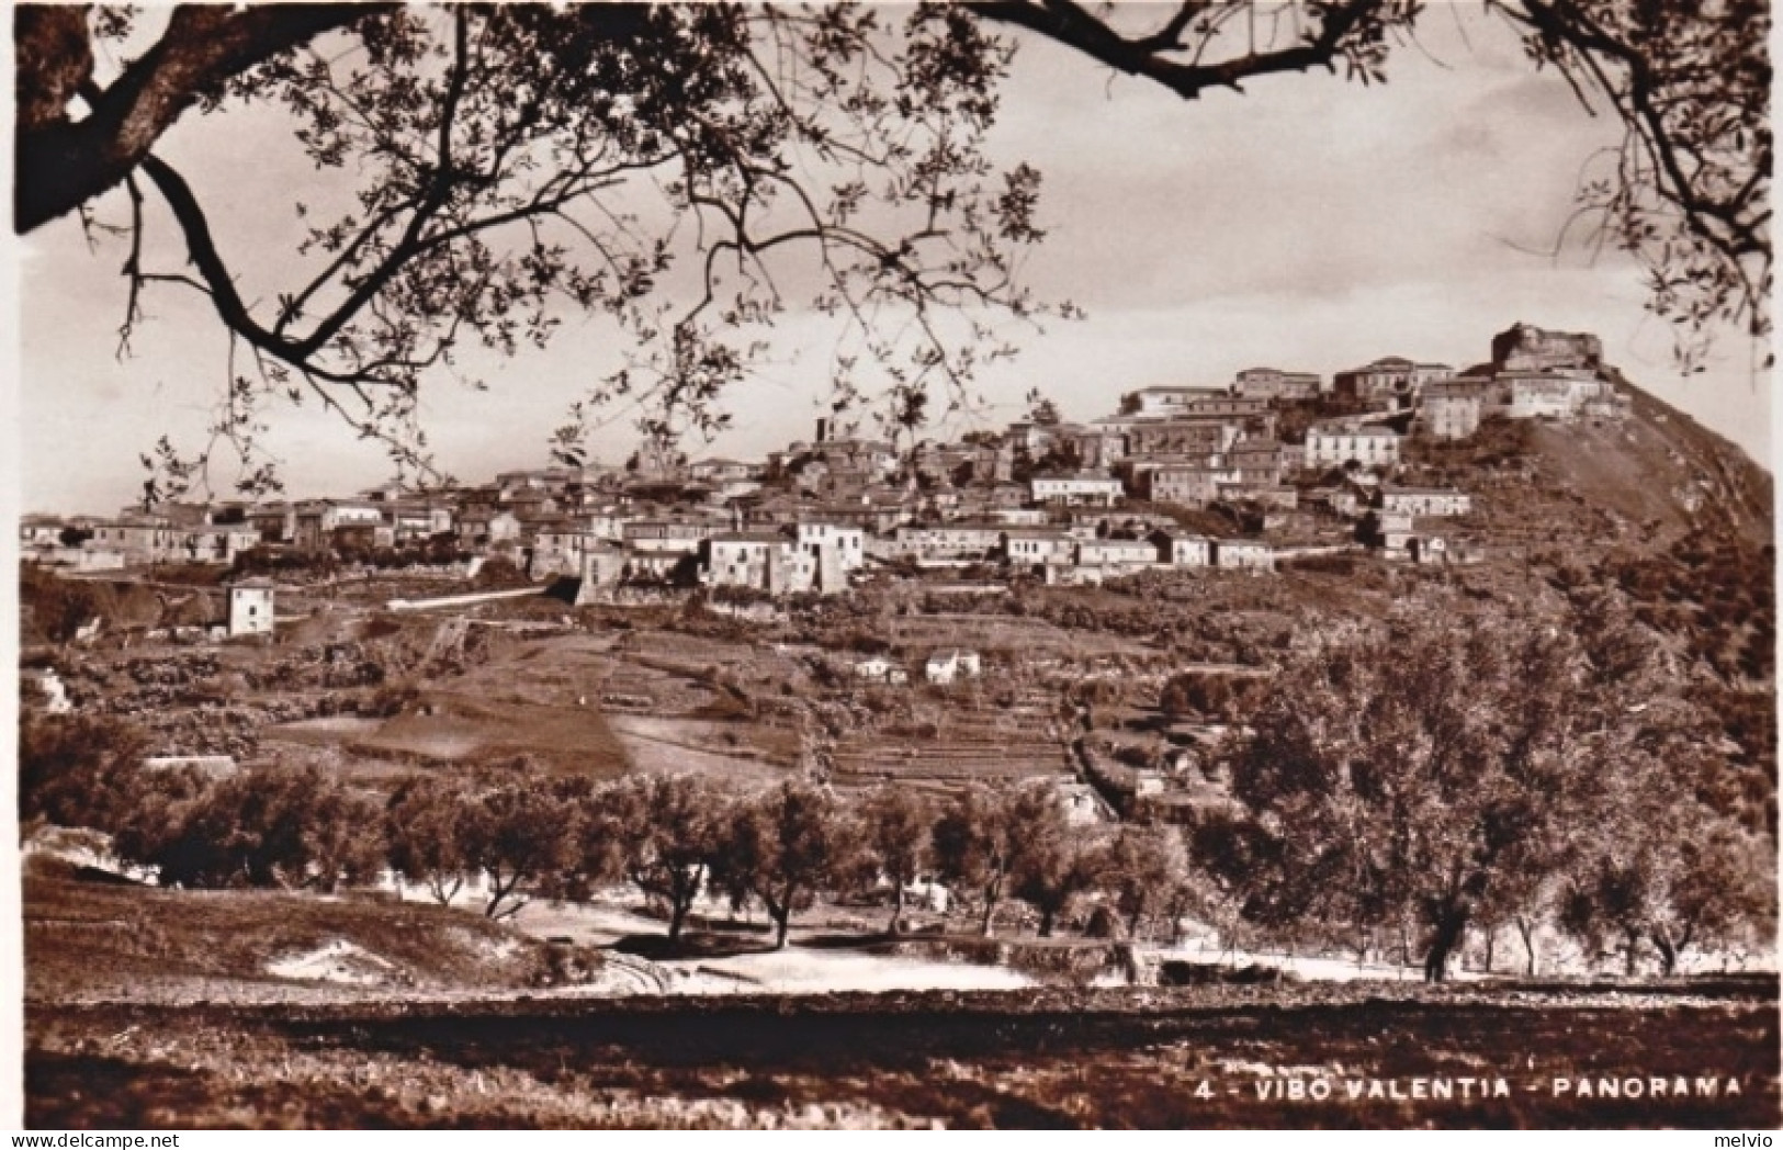
POLYGON ((761 924, 699 916, 667 954, 661 924, 624 902, 537 904, 505 925, 376 897, 143 888, 32 854, 27 1118, 1738 1129, 1779 1116, 1774 975, 1111 988, 1107 943, 884 940, 877 922, 877 908, 870 922, 827 908, 772 950, 761 924), (824 993, 840 988, 884 993, 824 993))

